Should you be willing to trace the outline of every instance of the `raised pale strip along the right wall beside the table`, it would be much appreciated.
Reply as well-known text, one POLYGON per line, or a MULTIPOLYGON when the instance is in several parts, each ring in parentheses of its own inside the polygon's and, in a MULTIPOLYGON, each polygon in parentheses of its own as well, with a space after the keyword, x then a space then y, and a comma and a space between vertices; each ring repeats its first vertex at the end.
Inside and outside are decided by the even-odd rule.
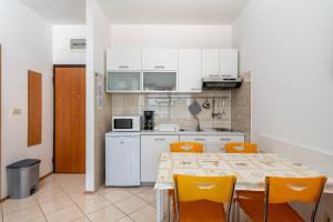
POLYGON ((260 134, 259 147, 264 152, 275 152, 289 159, 300 161, 311 169, 333 176, 333 154, 317 151, 301 144, 295 144, 273 135, 260 134))

